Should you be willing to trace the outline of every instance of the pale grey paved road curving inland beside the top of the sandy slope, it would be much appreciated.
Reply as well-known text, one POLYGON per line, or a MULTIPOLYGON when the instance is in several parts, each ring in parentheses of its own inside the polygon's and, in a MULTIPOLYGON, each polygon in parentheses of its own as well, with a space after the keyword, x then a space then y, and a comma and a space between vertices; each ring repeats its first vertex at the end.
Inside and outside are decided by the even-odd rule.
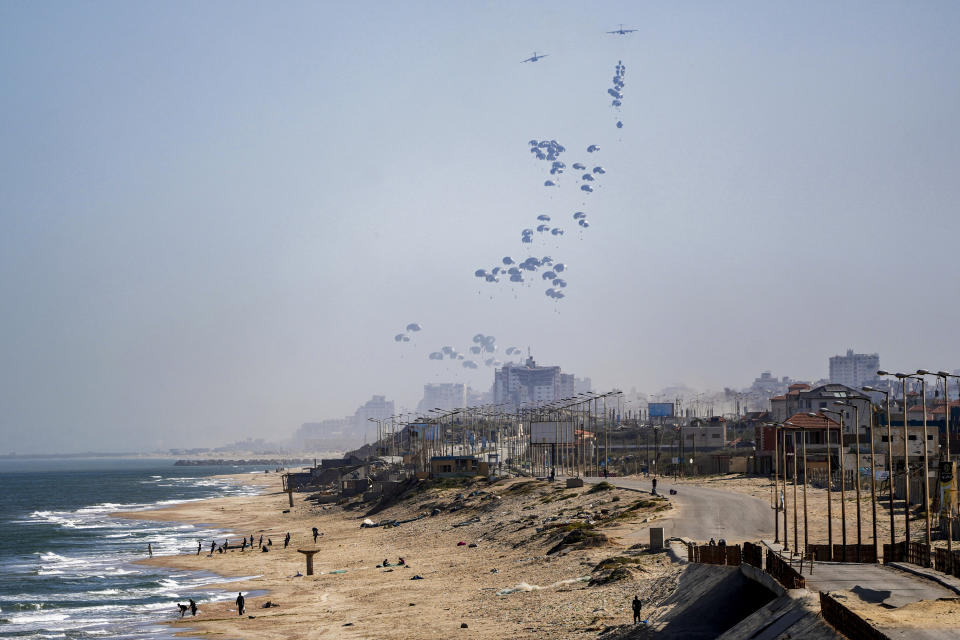
MULTIPOLYGON (((584 480, 600 482, 603 478, 584 480)), ((650 491, 652 488, 650 480, 645 478, 606 480, 625 489, 650 491)), ((773 539, 773 510, 759 498, 690 484, 674 485, 669 478, 662 477, 657 480, 657 493, 669 498, 673 504, 671 511, 651 523, 663 527, 665 538, 685 537, 700 542, 724 538, 730 543, 773 539), (676 495, 670 495, 670 489, 676 489, 676 495)))

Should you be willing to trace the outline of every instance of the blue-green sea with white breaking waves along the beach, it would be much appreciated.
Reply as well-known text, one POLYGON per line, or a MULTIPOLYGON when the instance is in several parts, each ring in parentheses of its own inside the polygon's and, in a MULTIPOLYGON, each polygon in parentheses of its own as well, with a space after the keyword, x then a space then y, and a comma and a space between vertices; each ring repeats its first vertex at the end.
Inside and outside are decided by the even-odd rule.
POLYGON ((134 564, 148 544, 155 556, 195 552, 225 531, 110 514, 253 495, 213 476, 265 468, 173 463, 0 459, 0 637, 167 639, 159 623, 179 616, 178 602, 236 597, 205 589, 225 581, 211 573, 134 564))

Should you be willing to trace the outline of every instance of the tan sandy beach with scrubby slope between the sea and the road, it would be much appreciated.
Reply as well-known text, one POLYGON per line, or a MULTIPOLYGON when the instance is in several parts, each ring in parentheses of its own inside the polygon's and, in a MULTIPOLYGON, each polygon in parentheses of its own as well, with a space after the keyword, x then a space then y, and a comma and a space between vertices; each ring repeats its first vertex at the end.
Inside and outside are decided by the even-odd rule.
POLYGON ((428 482, 369 516, 422 519, 361 528, 369 505, 321 507, 295 494, 295 506, 284 513, 279 475, 236 480, 261 484, 264 493, 118 514, 217 525, 236 532, 231 545, 241 535, 272 540, 267 553, 238 547, 210 554, 207 540, 199 555, 145 560, 247 577, 222 586, 265 592, 247 598, 242 617, 231 599, 200 602, 198 615, 181 621, 171 602, 169 621, 188 637, 579 638, 630 622, 633 596, 658 602, 681 571, 663 553, 627 548, 636 542, 624 540, 632 523, 670 508, 646 493, 529 479, 428 482), (323 534, 316 546, 312 527, 323 534), (291 544, 284 549, 287 532, 291 544), (305 573, 297 549, 314 548, 315 575, 297 576, 305 573), (394 566, 400 557, 406 566, 394 566), (385 559, 391 566, 382 566, 385 559), (277 606, 264 608, 267 602, 277 606))

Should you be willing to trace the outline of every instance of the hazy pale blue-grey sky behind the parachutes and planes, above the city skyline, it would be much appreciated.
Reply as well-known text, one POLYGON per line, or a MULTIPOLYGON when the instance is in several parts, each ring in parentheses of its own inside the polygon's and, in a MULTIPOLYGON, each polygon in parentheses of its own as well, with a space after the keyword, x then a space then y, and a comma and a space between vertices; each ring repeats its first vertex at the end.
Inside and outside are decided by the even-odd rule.
POLYGON ((428 359, 477 333, 648 393, 960 367, 958 32, 951 2, 0 3, 0 453, 487 389, 428 359), (539 214, 564 236, 522 244, 539 214), (564 299, 473 276, 528 255, 564 299))

